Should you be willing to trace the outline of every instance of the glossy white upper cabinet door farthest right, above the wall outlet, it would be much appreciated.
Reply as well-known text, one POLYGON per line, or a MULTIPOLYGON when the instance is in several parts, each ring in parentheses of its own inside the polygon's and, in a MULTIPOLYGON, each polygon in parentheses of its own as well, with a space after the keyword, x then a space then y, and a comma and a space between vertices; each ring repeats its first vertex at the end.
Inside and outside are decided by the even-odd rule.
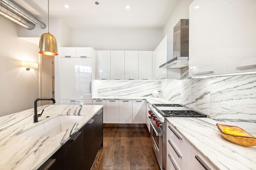
POLYGON ((226 73, 256 70, 255 7, 256 0, 226 0, 226 73))

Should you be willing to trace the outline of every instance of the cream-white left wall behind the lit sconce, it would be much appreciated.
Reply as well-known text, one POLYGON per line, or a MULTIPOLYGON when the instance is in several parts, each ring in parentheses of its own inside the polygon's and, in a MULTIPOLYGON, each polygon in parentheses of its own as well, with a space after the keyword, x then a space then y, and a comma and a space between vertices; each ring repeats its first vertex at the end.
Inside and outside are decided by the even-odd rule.
POLYGON ((0 116, 34 107, 39 68, 26 71, 21 60, 39 62, 38 45, 18 38, 20 26, 0 17, 0 116))

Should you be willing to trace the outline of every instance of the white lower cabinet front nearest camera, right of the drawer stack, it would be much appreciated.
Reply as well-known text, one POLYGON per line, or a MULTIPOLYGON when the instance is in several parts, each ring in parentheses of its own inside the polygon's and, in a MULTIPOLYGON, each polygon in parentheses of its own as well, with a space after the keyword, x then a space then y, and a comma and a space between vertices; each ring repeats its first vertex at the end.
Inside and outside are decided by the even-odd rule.
POLYGON ((215 168, 192 145, 189 145, 189 169, 215 170, 215 168))

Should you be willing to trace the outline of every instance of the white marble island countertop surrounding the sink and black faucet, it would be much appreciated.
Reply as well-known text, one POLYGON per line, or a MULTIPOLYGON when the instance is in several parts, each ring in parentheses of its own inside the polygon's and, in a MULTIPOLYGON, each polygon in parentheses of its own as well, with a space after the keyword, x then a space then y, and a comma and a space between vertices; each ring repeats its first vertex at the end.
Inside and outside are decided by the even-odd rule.
POLYGON ((0 117, 0 169, 36 170, 102 107, 103 105, 44 105, 38 107, 38 113, 44 109, 38 123, 33 123, 34 108, 0 117), (84 118, 54 137, 16 136, 58 115, 76 115, 84 118))

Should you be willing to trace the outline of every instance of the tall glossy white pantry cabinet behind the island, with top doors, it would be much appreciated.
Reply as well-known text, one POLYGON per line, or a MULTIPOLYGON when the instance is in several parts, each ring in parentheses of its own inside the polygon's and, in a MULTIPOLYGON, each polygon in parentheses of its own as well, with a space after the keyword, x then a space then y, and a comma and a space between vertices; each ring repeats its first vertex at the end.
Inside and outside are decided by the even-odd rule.
POLYGON ((91 47, 60 48, 60 104, 92 104, 95 50, 91 47))

